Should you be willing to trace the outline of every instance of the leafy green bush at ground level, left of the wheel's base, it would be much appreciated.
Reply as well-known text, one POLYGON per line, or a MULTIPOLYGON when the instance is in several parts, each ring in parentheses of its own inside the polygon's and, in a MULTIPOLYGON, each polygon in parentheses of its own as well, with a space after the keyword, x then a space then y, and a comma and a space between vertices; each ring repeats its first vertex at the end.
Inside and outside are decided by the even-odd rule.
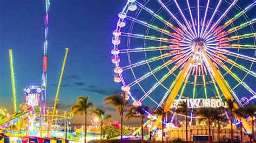
MULTIPOLYGON (((121 130, 117 129, 113 125, 107 125, 102 128, 102 134, 107 139, 111 139, 111 138, 120 136, 121 130)), ((123 128, 123 134, 129 135, 129 130, 127 128, 123 128)))

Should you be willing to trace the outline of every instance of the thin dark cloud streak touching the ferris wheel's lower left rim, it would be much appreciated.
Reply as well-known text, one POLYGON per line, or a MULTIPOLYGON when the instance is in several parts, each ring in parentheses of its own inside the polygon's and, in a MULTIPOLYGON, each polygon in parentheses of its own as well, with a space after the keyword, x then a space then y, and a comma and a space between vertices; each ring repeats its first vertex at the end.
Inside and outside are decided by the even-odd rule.
POLYGON ((97 87, 96 85, 87 85, 87 87, 80 88, 80 90, 95 92, 101 95, 112 95, 120 92, 119 89, 103 89, 103 88, 97 87))

